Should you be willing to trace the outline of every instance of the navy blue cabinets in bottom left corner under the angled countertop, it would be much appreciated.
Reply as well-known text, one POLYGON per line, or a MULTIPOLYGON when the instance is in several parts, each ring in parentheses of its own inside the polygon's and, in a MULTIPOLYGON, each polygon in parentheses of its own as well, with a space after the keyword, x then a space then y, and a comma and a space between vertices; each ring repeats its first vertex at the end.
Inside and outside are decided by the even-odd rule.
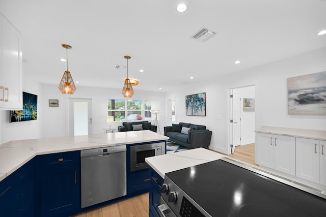
POLYGON ((33 159, 0 182, 0 216, 35 216, 33 159))

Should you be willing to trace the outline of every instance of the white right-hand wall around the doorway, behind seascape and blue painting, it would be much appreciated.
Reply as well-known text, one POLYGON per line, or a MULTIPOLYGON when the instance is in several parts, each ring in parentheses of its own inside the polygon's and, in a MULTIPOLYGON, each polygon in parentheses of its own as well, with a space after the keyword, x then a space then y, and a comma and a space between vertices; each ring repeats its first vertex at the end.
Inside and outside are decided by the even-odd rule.
MULTIPOLYGON (((209 148, 230 153, 229 89, 255 85, 255 128, 278 126, 326 130, 326 116, 288 115, 287 78, 326 71, 326 48, 276 61, 232 75, 210 79, 196 85, 184 85, 167 92, 176 98, 177 122, 206 125, 211 130, 209 148), (206 117, 185 115, 185 96, 206 92, 206 117)), ((218 70, 218 69, 216 69, 218 70)))

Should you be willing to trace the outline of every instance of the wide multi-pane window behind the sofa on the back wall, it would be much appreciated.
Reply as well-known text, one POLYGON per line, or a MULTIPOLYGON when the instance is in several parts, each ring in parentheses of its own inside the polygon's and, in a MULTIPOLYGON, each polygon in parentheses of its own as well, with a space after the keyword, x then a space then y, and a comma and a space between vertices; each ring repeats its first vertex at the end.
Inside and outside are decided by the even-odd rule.
POLYGON ((152 109, 158 109, 158 101, 107 100, 107 115, 114 121, 154 120, 152 109))

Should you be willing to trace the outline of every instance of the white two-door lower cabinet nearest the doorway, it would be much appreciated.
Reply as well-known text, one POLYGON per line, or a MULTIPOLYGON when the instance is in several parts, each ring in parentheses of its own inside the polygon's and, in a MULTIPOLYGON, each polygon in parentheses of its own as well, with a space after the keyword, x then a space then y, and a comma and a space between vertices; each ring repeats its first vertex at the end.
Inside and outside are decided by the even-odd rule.
POLYGON ((295 175, 295 137, 256 133, 256 164, 295 175))

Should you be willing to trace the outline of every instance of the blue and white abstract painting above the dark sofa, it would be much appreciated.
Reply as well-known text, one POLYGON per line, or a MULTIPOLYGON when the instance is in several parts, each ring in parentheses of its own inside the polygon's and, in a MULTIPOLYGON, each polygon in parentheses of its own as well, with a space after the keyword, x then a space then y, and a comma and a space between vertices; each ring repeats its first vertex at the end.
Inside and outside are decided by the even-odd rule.
POLYGON ((206 92, 185 96, 185 114, 206 116, 206 92))

